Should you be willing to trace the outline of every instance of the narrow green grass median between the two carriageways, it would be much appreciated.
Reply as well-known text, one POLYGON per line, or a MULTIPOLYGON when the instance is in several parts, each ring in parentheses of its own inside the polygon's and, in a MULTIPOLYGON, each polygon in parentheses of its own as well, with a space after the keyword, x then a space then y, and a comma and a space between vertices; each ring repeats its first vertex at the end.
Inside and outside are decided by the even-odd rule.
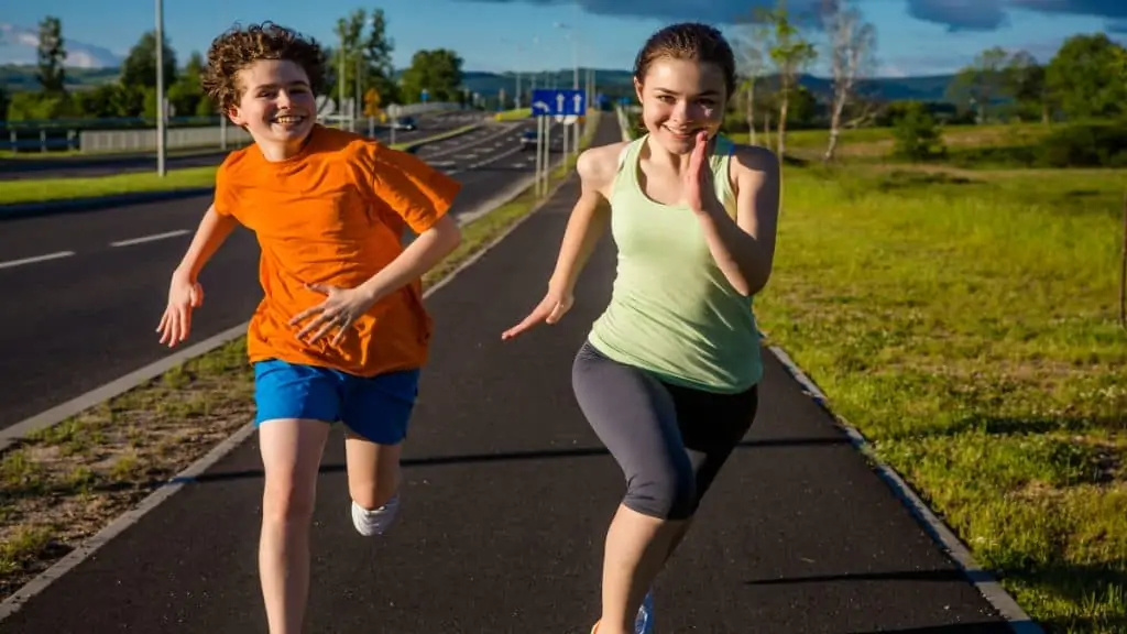
MULTIPOLYGON (((477 125, 464 125, 419 141, 396 143, 392 147, 405 149, 418 146, 419 143, 441 141, 442 139, 463 134, 473 127, 477 127, 477 125)), ((153 171, 143 171, 88 178, 26 178, 6 180, 3 186, 0 187, 0 205, 211 187, 215 184, 216 169, 219 169, 218 165, 214 167, 170 169, 163 178, 153 171)))

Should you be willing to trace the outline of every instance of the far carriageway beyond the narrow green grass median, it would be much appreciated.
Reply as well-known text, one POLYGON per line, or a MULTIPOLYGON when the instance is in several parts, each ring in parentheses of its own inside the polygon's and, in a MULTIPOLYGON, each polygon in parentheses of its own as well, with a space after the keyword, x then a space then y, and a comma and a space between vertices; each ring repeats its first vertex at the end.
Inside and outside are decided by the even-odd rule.
MULTIPOLYGON (((480 113, 440 113, 418 117, 418 130, 397 131, 394 142, 405 143, 418 141, 427 137, 441 134, 463 125, 479 122, 480 113)), ((389 129, 379 130, 375 134, 381 141, 390 141, 389 129)), ((167 159, 168 169, 187 167, 207 167, 222 162, 227 152, 214 151, 170 156, 167 159)), ((32 178, 83 178, 107 176, 112 174, 151 171, 157 169, 157 155, 130 155, 118 157, 60 157, 46 159, 0 159, 0 180, 18 180, 32 178)))

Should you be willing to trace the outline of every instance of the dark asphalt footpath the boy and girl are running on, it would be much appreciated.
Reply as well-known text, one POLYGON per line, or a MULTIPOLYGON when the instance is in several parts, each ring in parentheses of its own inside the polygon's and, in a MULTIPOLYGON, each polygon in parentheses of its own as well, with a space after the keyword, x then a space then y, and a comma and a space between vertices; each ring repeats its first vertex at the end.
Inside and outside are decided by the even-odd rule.
MULTIPOLYGON (((428 300, 437 333, 387 538, 352 529, 337 430, 316 509, 309 632, 589 629, 622 485, 575 405, 570 364, 610 293, 609 240, 564 323, 500 342, 540 299, 576 195, 573 183, 428 300)), ((762 394, 656 588, 663 633, 1006 632, 770 356, 762 394)), ((251 437, 0 632, 265 632, 257 451, 251 437)))

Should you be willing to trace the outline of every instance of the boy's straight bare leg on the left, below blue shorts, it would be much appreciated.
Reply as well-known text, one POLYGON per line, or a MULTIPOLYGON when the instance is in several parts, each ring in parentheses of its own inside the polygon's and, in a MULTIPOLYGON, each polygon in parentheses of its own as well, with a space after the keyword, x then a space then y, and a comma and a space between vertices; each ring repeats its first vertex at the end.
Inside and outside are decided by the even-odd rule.
POLYGON ((259 425, 266 485, 258 570, 270 634, 299 634, 309 596, 309 532, 317 473, 329 434, 321 421, 284 419, 259 425))

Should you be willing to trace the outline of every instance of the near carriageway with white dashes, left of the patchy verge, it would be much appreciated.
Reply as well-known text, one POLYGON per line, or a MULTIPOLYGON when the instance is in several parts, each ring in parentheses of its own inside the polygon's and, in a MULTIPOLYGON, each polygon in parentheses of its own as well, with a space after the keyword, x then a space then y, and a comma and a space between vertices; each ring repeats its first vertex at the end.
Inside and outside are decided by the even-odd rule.
MULTIPOLYGON (((533 173, 530 123, 489 123, 418 156, 464 183, 454 213, 533 173)), ((159 360, 156 328, 175 268, 210 196, 0 221, 0 429, 159 360), (132 241, 140 240, 140 241, 132 241), (43 258, 43 259, 39 259, 43 258)), ((258 246, 237 230, 204 270, 205 337, 249 318, 261 298, 258 246)))

